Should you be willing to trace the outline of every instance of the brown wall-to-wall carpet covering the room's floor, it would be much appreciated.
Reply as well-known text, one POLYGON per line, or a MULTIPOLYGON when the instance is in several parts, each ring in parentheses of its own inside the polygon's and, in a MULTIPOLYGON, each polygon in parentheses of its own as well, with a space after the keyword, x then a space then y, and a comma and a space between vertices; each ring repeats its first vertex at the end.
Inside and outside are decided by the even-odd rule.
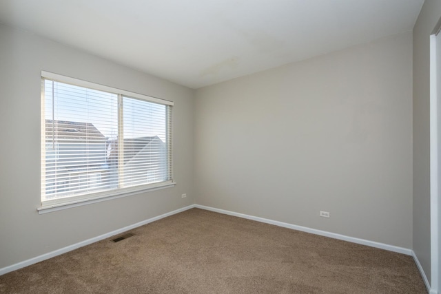
POLYGON ((410 256, 211 211, 130 232, 2 275, 0 292, 427 293, 410 256))

